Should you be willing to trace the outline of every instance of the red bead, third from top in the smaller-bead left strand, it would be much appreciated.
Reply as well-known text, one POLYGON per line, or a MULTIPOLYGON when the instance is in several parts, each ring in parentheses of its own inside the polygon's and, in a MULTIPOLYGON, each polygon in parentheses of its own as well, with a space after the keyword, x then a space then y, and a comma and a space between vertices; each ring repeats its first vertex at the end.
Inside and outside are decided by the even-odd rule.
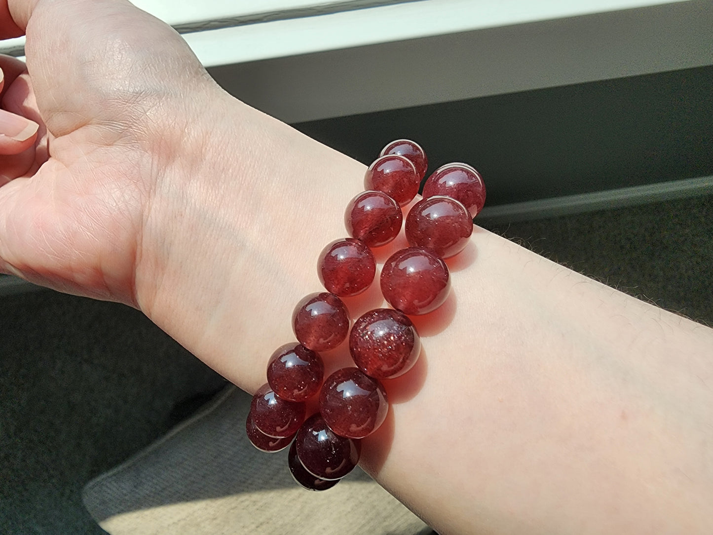
POLYGON ((399 203, 381 191, 359 193, 349 201, 344 213, 347 233, 369 247, 381 247, 394 240, 403 220, 399 203))

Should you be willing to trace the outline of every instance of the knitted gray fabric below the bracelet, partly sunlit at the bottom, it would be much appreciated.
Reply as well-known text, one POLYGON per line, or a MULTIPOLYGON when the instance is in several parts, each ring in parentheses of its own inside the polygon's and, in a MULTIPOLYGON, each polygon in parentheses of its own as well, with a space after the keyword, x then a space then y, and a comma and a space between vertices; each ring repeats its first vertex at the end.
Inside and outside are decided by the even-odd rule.
POLYGON ((207 409, 116 469, 83 501, 111 535, 427 534, 431 529, 356 469, 310 492, 287 469, 287 450, 259 452, 245 435, 250 396, 227 387, 207 409))

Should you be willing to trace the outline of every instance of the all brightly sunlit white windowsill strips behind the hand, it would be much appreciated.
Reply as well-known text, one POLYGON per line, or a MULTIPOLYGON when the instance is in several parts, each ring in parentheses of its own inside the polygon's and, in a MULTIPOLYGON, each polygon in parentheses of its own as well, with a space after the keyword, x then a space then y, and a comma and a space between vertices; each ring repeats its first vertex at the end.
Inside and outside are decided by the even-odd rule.
MULTIPOLYGON (((234 27, 185 36, 205 66, 217 66, 685 1, 691 0, 404 0, 367 9, 349 9, 349 4, 359 4, 359 0, 200 3, 135 0, 134 3, 173 26, 236 19, 234 27), (304 9, 318 12, 320 7, 329 6, 344 6, 347 11, 304 16, 304 9), (299 16, 290 18, 290 11, 299 16), (264 14, 269 19, 270 14, 277 13, 287 20, 240 25, 242 17, 264 14)), ((17 51, 24 48, 24 42, 24 37, 3 41, 0 54, 20 55, 17 51)))

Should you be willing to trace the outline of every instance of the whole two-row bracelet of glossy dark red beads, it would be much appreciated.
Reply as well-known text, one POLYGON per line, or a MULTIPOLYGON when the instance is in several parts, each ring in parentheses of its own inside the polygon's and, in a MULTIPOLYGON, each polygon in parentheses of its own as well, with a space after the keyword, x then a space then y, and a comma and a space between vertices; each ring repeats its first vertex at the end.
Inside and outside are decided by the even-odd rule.
POLYGON ((393 308, 361 315, 349 331, 340 297, 364 292, 376 275, 371 248, 401 231, 401 207, 419 192, 428 160, 413 141, 397 140, 381 151, 364 175, 366 191, 347 205, 351 238, 329 243, 319 256, 318 275, 327 292, 302 298, 292 313, 298 342, 279 347, 267 364, 267 384, 255 393, 245 424, 250 442, 263 452, 290 446, 287 463, 298 484, 310 490, 336 485, 359 462, 360 439, 386 419, 389 402, 382 379, 411 370, 421 341, 409 315, 427 314, 445 302, 451 282, 443 258, 465 248, 486 189, 480 173, 464 163, 434 171, 423 198, 406 216, 411 247, 391 255, 381 269, 381 292, 393 308), (324 379, 319 352, 349 335, 356 367, 324 379), (319 393, 319 412, 307 418, 307 400, 319 393))

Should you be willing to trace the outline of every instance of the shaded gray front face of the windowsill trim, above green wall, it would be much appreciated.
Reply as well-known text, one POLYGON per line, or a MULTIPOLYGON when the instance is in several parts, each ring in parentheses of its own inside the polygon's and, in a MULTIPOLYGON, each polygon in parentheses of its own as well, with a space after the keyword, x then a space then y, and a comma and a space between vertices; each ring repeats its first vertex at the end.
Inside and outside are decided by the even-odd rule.
POLYGON ((712 28, 713 1, 692 1, 238 63, 212 74, 250 106, 299 123, 710 65, 712 28))

